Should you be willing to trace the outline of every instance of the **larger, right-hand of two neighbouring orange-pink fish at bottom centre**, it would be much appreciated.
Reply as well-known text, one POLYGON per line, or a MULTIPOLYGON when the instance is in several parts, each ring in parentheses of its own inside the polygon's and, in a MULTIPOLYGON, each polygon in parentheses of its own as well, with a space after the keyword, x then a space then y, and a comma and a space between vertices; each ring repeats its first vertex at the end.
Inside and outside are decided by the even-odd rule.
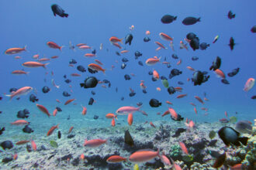
POLYGON ((159 157, 159 149, 157 151, 144 149, 135 151, 132 155, 130 155, 129 161, 134 163, 142 163, 150 161, 153 158, 159 157))

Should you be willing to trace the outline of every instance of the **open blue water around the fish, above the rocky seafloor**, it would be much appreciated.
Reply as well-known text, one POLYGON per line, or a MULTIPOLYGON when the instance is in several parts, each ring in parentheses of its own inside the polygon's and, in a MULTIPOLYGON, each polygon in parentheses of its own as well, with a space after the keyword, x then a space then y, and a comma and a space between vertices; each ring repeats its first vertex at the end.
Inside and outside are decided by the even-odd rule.
MULTIPOLYGON (((2 51, 0 62, 0 93, 3 99, 0 101, 0 127, 5 127, 5 134, 0 136, 5 138, 5 135, 15 135, 15 131, 20 128, 13 128, 9 122, 16 121, 16 113, 19 110, 27 108, 30 111, 28 121, 31 122, 31 127, 34 133, 46 134, 52 125, 61 124, 64 127, 81 126, 81 127, 109 127, 110 122, 106 120, 107 113, 114 113, 119 107, 133 106, 137 107, 138 102, 143 103, 142 110, 145 110, 148 117, 140 113, 134 115, 134 123, 144 121, 170 121, 170 117, 161 117, 161 114, 168 109, 166 100, 171 101, 172 106, 178 114, 183 117, 188 117, 196 122, 215 122, 220 118, 225 117, 224 112, 227 111, 228 116, 236 116, 238 120, 248 120, 253 122, 256 115, 255 100, 251 97, 256 95, 256 88, 253 87, 249 92, 244 92, 244 83, 248 78, 256 78, 256 35, 252 33, 251 27, 255 25, 255 9, 256 2, 249 0, 244 1, 32 1, 26 2, 18 0, 9 0, 0 2, 0 27, 2 51), (58 4, 64 8, 69 14, 68 18, 61 18, 58 15, 55 17, 51 11, 50 5, 58 4), (228 19, 227 12, 232 10, 236 14, 235 19, 228 19), (161 23, 161 17, 165 14, 177 15, 178 19, 171 24, 164 25, 161 23), (184 26, 182 20, 187 16, 201 17, 201 22, 193 26, 184 26), (134 30, 130 31, 129 27, 134 26, 134 30), (144 42, 145 32, 150 31, 150 42, 144 42), (174 53, 168 46, 169 42, 160 39, 160 32, 167 33, 174 37, 175 53, 179 59, 182 59, 182 64, 177 66, 178 59, 171 58, 174 53), (189 47, 189 51, 179 49, 179 42, 183 40, 187 33, 194 32, 200 39, 200 42, 210 44, 206 50, 197 49, 193 51, 189 47), (116 51, 120 52, 116 46, 112 46, 109 42, 111 36, 124 38, 126 34, 133 34, 133 42, 131 46, 122 44, 123 49, 128 49, 130 52, 116 56, 116 51), (216 35, 220 39, 213 44, 213 39, 216 35), (229 46, 230 37, 233 36, 235 42, 234 50, 231 51, 229 46), (58 49, 50 49, 47 46, 48 41, 56 42, 59 46, 64 46, 62 51, 58 49), (85 53, 90 53, 92 50, 80 50, 76 47, 75 52, 68 47, 68 42, 71 41, 74 45, 78 43, 87 43, 96 49, 97 56, 93 58, 84 57, 85 53), (154 41, 159 41, 168 47, 156 51, 158 46, 154 41), (100 50, 100 44, 103 44, 103 49, 100 50), (12 47, 23 47, 27 45, 27 52, 22 52, 17 55, 5 55, 6 49, 12 47), (107 50, 108 49, 108 50, 107 50), (139 50, 143 53, 139 59, 134 59, 134 52, 139 50), (33 61, 33 55, 40 54, 43 56, 59 56, 57 59, 50 59, 50 64, 47 70, 43 68, 26 68, 22 63, 33 61), (14 59, 15 56, 21 56, 22 59, 14 59), (129 59, 126 69, 120 68, 123 63, 121 60, 125 56, 129 59), (168 69, 164 64, 157 63, 154 66, 147 66, 146 59, 153 56, 161 56, 161 61, 164 57, 171 63, 171 69, 176 68, 182 70, 182 75, 175 76, 171 80, 168 79, 170 86, 182 87, 182 93, 187 93, 188 96, 182 99, 176 97, 179 92, 169 95, 167 90, 161 83, 161 80, 153 82, 151 76, 147 73, 154 69, 160 76, 168 77, 171 69, 168 69), (192 56, 198 56, 199 60, 192 61, 192 56), (220 69, 224 73, 229 73, 231 70, 240 67, 240 72, 234 77, 228 77, 229 85, 223 84, 220 78, 217 78, 213 71, 209 71, 209 66, 216 58, 220 56, 222 64, 220 69), (70 59, 75 59, 78 63, 74 67, 68 66, 70 59), (81 73, 81 77, 72 77, 71 73, 80 73, 76 70, 76 66, 87 66, 89 63, 94 63, 94 59, 99 59, 106 69, 106 74, 102 72, 91 74, 86 71, 81 73), (115 61, 118 61, 116 63, 115 61), (144 66, 138 65, 138 61, 142 61, 144 66), (115 68, 111 69, 114 65, 115 68), (192 77, 192 71, 187 70, 186 66, 192 66, 195 70, 206 70, 209 72, 210 78, 201 86, 193 86, 187 78, 192 77), (29 75, 12 75, 13 70, 26 70, 29 75), (54 72, 54 76, 50 72, 54 72), (46 75, 46 72, 48 74, 46 75), (125 74, 134 73, 131 80, 124 80, 125 74), (71 83, 64 82, 64 74, 71 83), (95 76, 99 80, 109 80, 110 88, 103 88, 99 84, 94 89, 84 89, 80 87, 87 76, 95 76), (47 81, 45 82, 44 79, 47 81), (54 79, 57 85, 61 85, 60 89, 55 88, 50 83, 54 79), (142 93, 140 89, 140 80, 145 81, 147 86, 147 94, 142 93), (184 85, 178 85, 178 81, 182 81, 184 85), (69 87, 71 84, 72 88, 69 87), (37 104, 43 104, 47 107, 50 113, 55 107, 61 107, 63 112, 59 112, 57 117, 48 118, 36 108, 36 103, 29 101, 29 95, 22 96, 20 100, 5 97, 3 93, 9 93, 11 87, 33 87, 38 92, 36 97, 39 98, 37 104), (43 93, 44 86, 50 87, 49 93, 43 93), (116 93, 116 87, 118 92, 116 93), (134 97, 129 97, 130 87, 135 91, 134 97), (157 91, 156 87, 161 87, 161 91, 157 91), (64 97, 62 92, 73 90, 71 97, 64 97), (95 96, 91 91, 95 91, 95 96), (195 100, 194 96, 203 98, 203 93, 206 92, 206 101, 204 105, 195 100), (92 106, 88 106, 88 100, 93 97, 96 102, 92 106), (124 100, 120 100, 124 97, 124 100), (73 103, 64 106, 67 99, 75 98, 73 103), (152 108, 148 102, 151 98, 156 98, 161 101, 161 107, 152 108), (56 102, 56 99, 61 100, 61 104, 56 102), (192 102, 196 104, 199 111, 195 114, 192 102), (81 115, 81 104, 88 108, 88 114, 81 115), (208 115, 204 116, 205 111, 201 107, 209 108, 208 115), (236 114, 236 112, 238 114, 236 114), (71 119, 68 121, 68 115, 71 119), (99 115, 98 120, 94 120, 94 115, 99 115), (12 134, 9 134, 12 133, 12 134)), ((183 40, 184 41, 184 40, 183 40)), ((122 50, 123 50, 122 49, 122 50)), ((120 121, 126 125, 126 117, 120 116, 120 121)), ((60 126, 61 126, 60 125, 60 126)), ((18 133, 18 132, 17 132, 18 133)), ((33 135, 33 134, 31 134, 33 135)))

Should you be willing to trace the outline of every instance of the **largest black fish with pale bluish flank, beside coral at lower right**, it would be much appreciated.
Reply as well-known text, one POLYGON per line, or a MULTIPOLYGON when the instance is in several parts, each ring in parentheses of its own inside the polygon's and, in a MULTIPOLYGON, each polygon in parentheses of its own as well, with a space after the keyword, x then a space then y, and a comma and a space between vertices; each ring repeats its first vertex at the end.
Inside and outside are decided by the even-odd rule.
POLYGON ((230 146, 230 144, 240 146, 240 143, 247 145, 248 138, 240 137, 240 133, 234 130, 234 128, 225 126, 218 131, 218 134, 227 146, 230 146))

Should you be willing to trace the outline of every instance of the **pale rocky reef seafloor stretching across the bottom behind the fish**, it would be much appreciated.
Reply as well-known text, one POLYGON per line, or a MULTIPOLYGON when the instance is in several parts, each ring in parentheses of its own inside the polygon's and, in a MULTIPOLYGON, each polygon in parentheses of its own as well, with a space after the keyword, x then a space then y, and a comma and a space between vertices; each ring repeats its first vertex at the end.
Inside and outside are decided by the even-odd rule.
MULTIPOLYGON (((218 151, 227 154, 224 167, 243 164, 245 169, 256 169, 256 137, 255 132, 250 135, 247 146, 226 147, 223 141, 218 137, 209 138, 209 131, 219 131, 220 128, 227 125, 234 127, 234 124, 222 123, 200 123, 195 124, 192 130, 186 130, 178 133, 178 128, 185 128, 184 122, 156 121, 156 128, 150 124, 133 124, 132 126, 121 126, 108 128, 76 128, 71 134, 62 133, 61 139, 57 138, 57 131, 54 131, 50 137, 42 134, 36 134, 33 140, 36 142, 37 150, 28 151, 31 145, 15 145, 17 141, 29 140, 28 136, 17 136, 16 138, 6 138, 13 142, 14 147, 10 150, 1 151, 0 163, 1 169, 133 169, 134 163, 122 162, 109 164, 106 159, 111 155, 120 155, 129 158, 134 151, 140 149, 159 149, 182 169, 215 169, 213 163, 216 158, 209 155, 209 150, 218 151), (133 137, 134 146, 126 145, 124 142, 125 131, 129 130, 133 137), (176 132, 176 133, 175 133, 176 132), (98 148, 86 148, 83 146, 85 138, 88 140, 95 138, 108 138, 107 144, 98 148), (50 141, 57 142, 57 148, 50 145, 50 141), (185 154, 179 146, 179 141, 185 143, 192 160, 185 159, 185 154), (10 160, 5 163, 6 158, 18 155, 16 160, 10 160), (80 155, 85 155, 85 160, 80 159, 80 155)), ((2 139, 3 140, 3 139, 2 139)), ((2 141, 1 141, 2 142, 2 141)), ((139 164, 140 169, 168 169, 159 158, 153 161, 139 164)))

